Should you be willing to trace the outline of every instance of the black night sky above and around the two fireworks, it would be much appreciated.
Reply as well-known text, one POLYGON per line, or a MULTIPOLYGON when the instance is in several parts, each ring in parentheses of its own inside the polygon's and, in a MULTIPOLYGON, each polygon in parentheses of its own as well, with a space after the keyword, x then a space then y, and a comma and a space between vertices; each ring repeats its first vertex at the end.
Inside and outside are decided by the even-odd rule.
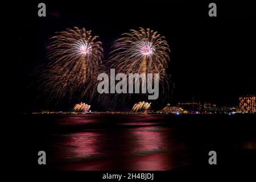
POLYGON ((171 48, 174 105, 194 96, 196 101, 236 106, 239 96, 256 93, 256 6, 250 3, 217 3, 217 17, 212 18, 207 2, 46 1, 47 16, 41 18, 38 3, 20 3, 14 22, 21 111, 46 108, 36 101, 32 72, 48 62, 48 38, 74 26, 100 36, 105 60, 114 40, 130 29, 151 28, 165 36, 171 48))

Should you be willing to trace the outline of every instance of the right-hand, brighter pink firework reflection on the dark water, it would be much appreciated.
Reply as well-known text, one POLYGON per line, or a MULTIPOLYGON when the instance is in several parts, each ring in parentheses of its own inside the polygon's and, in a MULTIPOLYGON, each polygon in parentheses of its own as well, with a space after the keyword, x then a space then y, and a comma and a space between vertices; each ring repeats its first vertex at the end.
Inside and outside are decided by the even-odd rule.
POLYGON ((132 170, 164 170, 170 168, 170 145, 167 142, 167 130, 163 127, 144 126, 130 132, 133 138, 133 158, 129 165, 132 170))

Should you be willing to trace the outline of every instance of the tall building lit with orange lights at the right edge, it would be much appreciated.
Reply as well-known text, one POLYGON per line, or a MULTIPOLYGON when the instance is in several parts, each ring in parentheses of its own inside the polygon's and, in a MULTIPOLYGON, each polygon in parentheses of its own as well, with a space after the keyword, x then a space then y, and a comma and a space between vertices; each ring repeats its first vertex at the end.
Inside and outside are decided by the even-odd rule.
POLYGON ((239 109, 241 113, 256 113, 256 96, 241 96, 239 98, 239 109))

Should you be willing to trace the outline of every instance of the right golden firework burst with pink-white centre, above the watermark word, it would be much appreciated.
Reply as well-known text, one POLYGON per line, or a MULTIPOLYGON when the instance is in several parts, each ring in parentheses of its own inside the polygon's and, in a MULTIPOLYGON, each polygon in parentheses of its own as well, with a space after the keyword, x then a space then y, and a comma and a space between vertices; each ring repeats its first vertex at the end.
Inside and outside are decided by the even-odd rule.
POLYGON ((159 73, 166 75, 170 48, 164 36, 147 28, 131 30, 116 40, 110 53, 112 68, 126 73, 159 73))

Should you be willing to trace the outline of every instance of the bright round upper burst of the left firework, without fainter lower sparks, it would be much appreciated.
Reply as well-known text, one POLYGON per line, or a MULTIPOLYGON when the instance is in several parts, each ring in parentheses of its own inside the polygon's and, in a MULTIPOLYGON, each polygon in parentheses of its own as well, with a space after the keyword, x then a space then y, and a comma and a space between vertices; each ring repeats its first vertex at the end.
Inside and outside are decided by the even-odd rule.
POLYGON ((91 32, 77 27, 56 32, 47 47, 52 67, 61 66, 67 72, 78 71, 83 83, 96 76, 102 63, 103 48, 102 43, 97 42, 98 36, 92 36, 91 32))

